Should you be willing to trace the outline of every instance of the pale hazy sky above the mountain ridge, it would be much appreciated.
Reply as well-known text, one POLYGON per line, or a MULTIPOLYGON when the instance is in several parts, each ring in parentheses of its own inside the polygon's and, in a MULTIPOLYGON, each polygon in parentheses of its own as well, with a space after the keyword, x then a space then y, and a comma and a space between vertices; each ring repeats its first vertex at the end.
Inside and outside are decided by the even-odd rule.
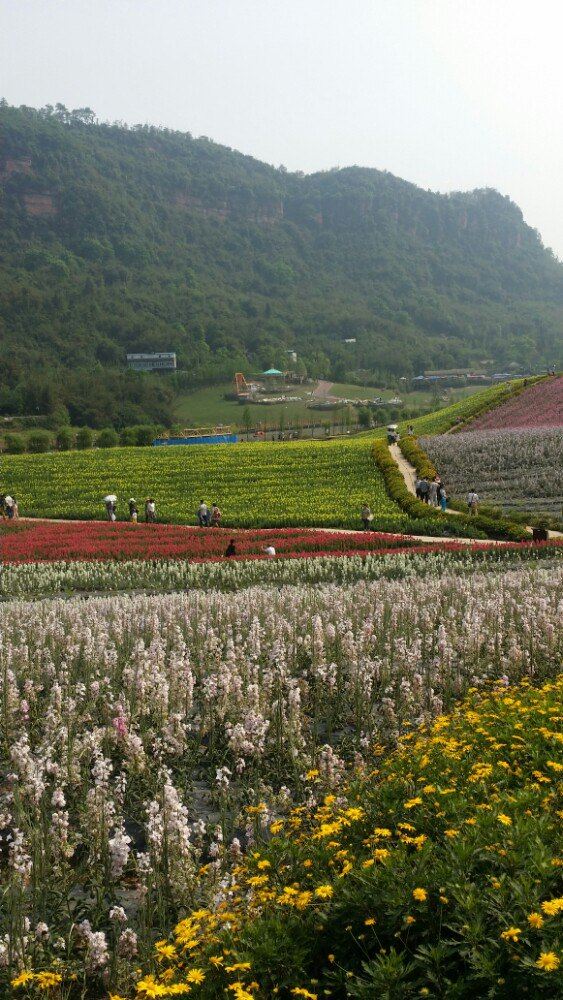
POLYGON ((563 257, 559 0, 0 0, 0 95, 496 187, 563 257))

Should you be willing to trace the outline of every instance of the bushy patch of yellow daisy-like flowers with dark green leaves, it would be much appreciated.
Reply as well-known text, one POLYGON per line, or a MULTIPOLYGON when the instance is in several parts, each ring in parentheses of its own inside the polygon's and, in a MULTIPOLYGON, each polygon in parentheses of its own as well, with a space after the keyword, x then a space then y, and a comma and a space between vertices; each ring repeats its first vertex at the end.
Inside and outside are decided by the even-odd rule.
POLYGON ((563 676, 474 694, 271 824, 140 995, 562 996, 562 699, 563 676))

